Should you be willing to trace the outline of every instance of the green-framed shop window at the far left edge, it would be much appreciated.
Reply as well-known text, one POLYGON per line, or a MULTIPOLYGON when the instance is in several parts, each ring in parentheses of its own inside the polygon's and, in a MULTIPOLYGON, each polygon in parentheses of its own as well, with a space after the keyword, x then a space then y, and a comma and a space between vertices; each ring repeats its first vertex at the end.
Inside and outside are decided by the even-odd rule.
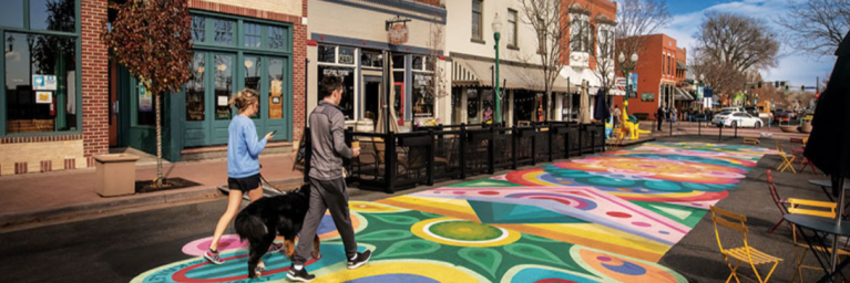
MULTIPOLYGON (((6 33, 7 32, 14 32, 14 33, 27 33, 27 34, 35 34, 35 35, 57 35, 57 36, 65 36, 69 39, 73 39, 74 44, 74 56, 76 57, 76 62, 74 65, 74 75, 76 76, 74 80, 74 91, 76 94, 75 97, 75 108, 76 108, 76 128, 75 129, 68 129, 68 130, 52 130, 52 132, 39 132, 39 133, 7 133, 7 93, 6 93, 6 75, 0 76, 0 137, 33 137, 33 136, 66 136, 66 135, 80 135, 83 133, 83 103, 82 103, 82 21, 81 21, 81 0, 72 0, 74 1, 74 31, 68 32, 68 31, 51 31, 51 30, 32 30, 30 29, 30 0, 19 0, 23 2, 23 25, 22 28, 16 28, 16 27, 7 27, 7 25, 0 25, 0 36, 3 38, 2 44, 6 46, 6 33)), ((6 52, 6 48, 2 49, 3 52, 6 52)), ((6 74, 6 56, 0 56, 0 67, 3 69, 3 74, 6 74)), ((30 75, 32 75, 32 72, 30 72, 30 75)))

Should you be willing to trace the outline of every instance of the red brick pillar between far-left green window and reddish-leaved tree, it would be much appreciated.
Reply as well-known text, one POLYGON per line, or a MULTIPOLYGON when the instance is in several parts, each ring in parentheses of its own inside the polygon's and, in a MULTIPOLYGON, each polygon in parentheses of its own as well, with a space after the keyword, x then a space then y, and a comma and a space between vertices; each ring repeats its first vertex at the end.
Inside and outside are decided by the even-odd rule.
MULTIPOLYGON (((106 0, 81 0, 83 155, 109 153, 109 59, 100 40, 106 0)), ((86 163, 88 164, 88 163, 86 163)))

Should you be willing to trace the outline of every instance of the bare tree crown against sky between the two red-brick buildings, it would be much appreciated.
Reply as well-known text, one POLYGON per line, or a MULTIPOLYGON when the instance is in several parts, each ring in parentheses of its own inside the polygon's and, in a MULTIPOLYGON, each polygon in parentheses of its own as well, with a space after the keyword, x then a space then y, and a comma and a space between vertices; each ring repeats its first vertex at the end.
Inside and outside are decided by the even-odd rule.
POLYGON ((672 20, 667 3, 663 0, 623 0, 617 7, 615 57, 623 53, 628 59, 632 54, 638 53, 644 49, 646 41, 643 35, 657 32, 672 20))

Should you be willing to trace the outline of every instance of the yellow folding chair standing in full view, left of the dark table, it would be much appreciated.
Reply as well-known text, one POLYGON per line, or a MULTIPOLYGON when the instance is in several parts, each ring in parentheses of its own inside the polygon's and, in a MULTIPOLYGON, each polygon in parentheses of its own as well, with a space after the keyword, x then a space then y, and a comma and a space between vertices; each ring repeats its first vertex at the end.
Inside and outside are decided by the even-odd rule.
MULTIPOLYGON (((756 274, 756 280, 752 280, 755 282, 765 283, 770 279, 770 275, 774 274, 774 271, 776 270, 776 266, 779 264, 782 259, 776 258, 774 255, 764 253, 759 250, 756 250, 756 248, 749 247, 749 243, 747 241, 747 232, 749 232, 749 228, 747 228, 747 217, 743 214, 738 214, 728 210, 719 209, 714 206, 711 206, 711 221, 714 222, 714 231, 715 237, 717 237, 717 245, 720 248, 720 253, 723 254, 724 260, 726 261, 726 264, 729 266, 729 270, 731 271, 731 274, 729 274, 729 277, 726 279, 726 282, 728 283, 731 281, 731 279, 735 279, 736 282, 740 283, 740 277, 749 279, 747 276, 744 276, 743 274, 738 274, 738 266, 740 266, 741 263, 748 263, 750 268, 752 268, 752 273, 756 274), (733 249, 724 249, 723 242, 720 241, 720 231, 717 230, 717 227, 724 227, 728 228, 735 231, 738 231, 744 237, 744 247, 733 248, 733 249), (735 265, 731 264, 730 258, 736 261, 735 265), (756 265, 764 265, 764 264, 771 264, 770 272, 767 273, 767 276, 765 279, 761 279, 761 275, 759 275, 758 270, 756 269, 756 265)), ((751 280, 751 279, 749 279, 751 280)))

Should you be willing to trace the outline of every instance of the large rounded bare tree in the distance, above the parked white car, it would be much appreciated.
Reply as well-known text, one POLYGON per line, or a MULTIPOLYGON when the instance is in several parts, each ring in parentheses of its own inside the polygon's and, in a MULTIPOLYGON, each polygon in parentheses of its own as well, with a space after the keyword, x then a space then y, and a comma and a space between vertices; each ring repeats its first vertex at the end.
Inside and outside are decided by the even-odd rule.
POLYGON ((697 73, 719 95, 745 88, 747 71, 776 66, 779 43, 764 21, 734 13, 708 12, 694 34, 697 73))

